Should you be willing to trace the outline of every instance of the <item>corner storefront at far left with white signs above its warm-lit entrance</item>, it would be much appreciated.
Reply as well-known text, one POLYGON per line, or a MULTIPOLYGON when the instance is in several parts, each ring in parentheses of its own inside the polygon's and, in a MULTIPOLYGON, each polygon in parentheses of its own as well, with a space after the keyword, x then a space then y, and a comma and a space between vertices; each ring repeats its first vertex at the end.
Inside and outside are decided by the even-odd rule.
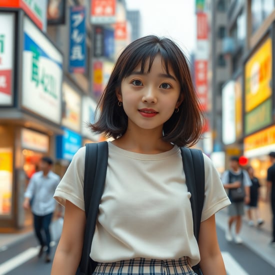
POLYGON ((0 25, 0 230, 8 230, 29 222, 28 179, 42 155, 54 159, 63 132, 63 56, 22 10, 1 11, 0 25))

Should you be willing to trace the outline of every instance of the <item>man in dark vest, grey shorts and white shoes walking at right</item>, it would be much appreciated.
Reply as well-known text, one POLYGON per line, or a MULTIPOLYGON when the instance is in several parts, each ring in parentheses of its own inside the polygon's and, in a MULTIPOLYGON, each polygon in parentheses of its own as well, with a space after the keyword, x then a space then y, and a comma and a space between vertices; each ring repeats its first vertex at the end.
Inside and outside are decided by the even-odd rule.
POLYGON ((225 170, 221 176, 223 187, 228 190, 228 196, 231 204, 228 205, 228 227, 225 230, 225 238, 232 241, 232 226, 235 225, 235 243, 242 243, 239 235, 242 215, 244 215, 244 203, 250 200, 251 181, 248 173, 240 168, 239 157, 231 156, 229 162, 230 168, 225 170))

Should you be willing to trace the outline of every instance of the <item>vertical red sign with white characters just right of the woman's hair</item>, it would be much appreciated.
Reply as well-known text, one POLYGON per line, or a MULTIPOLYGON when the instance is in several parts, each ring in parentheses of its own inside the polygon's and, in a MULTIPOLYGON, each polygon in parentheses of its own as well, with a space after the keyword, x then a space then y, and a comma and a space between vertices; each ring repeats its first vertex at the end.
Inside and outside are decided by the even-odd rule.
POLYGON ((195 60, 195 87, 201 110, 207 110, 207 60, 195 60))

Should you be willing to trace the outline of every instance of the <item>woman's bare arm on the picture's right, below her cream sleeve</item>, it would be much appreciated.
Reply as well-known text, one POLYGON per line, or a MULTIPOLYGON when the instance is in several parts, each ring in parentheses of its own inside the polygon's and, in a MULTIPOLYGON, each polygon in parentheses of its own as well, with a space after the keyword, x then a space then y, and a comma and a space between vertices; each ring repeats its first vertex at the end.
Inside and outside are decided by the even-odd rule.
POLYGON ((198 247, 203 275, 226 275, 216 236, 215 215, 200 223, 198 247))

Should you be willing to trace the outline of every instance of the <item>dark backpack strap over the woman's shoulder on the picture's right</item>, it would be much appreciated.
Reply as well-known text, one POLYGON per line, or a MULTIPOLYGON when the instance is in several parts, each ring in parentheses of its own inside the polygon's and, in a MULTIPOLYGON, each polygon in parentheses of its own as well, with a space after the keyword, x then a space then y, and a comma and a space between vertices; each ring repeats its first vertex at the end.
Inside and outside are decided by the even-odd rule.
MULTIPOLYGON (((191 193, 190 203, 193 217, 193 232, 198 241, 201 212, 204 202, 204 159, 201 150, 180 147, 185 182, 191 193)), ((199 263, 192 266, 196 274, 202 274, 199 263)))

